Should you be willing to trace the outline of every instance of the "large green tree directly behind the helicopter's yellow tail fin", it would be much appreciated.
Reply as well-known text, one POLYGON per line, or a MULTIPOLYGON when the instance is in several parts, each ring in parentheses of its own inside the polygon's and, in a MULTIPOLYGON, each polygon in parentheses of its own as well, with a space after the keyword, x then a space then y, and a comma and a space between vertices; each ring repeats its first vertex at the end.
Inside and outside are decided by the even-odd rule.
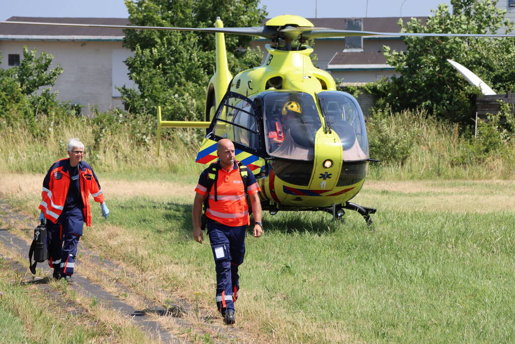
MULTIPOLYGON (((129 20, 138 26, 212 27, 220 16, 226 27, 261 25, 265 12, 259 0, 126 0, 129 20)), ((155 111, 169 119, 201 119, 205 87, 215 64, 212 33, 125 30, 124 46, 134 51, 126 60, 138 90, 120 88, 126 110, 155 111)), ((258 65, 259 49, 251 37, 226 35, 232 73, 258 65)))

